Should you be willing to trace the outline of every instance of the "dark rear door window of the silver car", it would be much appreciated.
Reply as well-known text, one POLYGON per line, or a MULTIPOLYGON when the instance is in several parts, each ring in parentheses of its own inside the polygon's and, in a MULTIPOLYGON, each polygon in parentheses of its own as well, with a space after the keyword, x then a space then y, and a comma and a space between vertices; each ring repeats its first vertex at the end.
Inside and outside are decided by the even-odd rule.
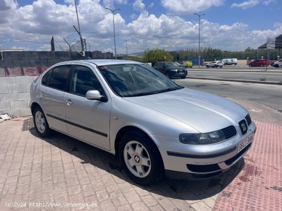
POLYGON ((49 81, 49 86, 60 90, 66 90, 70 67, 71 65, 55 67, 49 81))

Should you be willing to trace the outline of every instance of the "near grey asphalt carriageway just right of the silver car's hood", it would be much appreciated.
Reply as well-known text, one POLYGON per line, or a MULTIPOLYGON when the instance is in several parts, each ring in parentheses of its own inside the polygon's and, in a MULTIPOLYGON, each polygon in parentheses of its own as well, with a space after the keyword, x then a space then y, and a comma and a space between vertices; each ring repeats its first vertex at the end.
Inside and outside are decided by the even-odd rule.
MULTIPOLYGON (((282 78, 282 74, 281 74, 282 78)), ((248 100, 282 110, 282 86, 200 79, 174 79, 179 85, 216 95, 248 100)), ((281 113, 282 114, 282 113, 281 113)))

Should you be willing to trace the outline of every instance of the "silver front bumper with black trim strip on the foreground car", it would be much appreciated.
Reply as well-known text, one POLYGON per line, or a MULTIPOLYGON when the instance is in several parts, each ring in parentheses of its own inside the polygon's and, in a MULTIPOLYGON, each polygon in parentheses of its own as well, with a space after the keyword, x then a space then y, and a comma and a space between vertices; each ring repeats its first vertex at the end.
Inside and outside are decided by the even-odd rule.
POLYGON ((239 127, 236 127, 236 131, 236 136, 213 145, 184 145, 178 139, 159 136, 153 138, 167 172, 190 173, 194 178, 208 178, 228 170, 251 148, 253 142, 237 153, 239 143, 255 133, 255 124, 252 122, 249 125, 245 135, 240 135, 239 127))

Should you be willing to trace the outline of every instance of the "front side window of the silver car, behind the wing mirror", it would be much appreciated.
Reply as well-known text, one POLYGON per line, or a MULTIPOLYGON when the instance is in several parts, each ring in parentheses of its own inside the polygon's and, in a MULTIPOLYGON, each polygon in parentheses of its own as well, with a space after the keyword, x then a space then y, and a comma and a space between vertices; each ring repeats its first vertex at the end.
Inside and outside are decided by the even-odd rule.
POLYGON ((89 90, 98 90, 103 95, 103 88, 91 69, 85 66, 75 66, 70 92, 85 97, 89 90))

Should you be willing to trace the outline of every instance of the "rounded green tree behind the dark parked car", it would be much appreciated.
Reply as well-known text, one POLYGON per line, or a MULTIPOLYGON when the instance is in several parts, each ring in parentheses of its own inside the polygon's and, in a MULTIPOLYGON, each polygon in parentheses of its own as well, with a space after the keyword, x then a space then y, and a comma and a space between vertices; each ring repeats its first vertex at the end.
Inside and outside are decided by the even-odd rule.
POLYGON ((152 66, 155 65, 155 63, 159 61, 171 61, 171 55, 168 51, 166 50, 160 50, 160 49, 152 49, 152 50, 147 50, 144 52, 144 57, 143 61, 144 62, 151 62, 152 66), (166 57, 166 59, 165 59, 166 57))

